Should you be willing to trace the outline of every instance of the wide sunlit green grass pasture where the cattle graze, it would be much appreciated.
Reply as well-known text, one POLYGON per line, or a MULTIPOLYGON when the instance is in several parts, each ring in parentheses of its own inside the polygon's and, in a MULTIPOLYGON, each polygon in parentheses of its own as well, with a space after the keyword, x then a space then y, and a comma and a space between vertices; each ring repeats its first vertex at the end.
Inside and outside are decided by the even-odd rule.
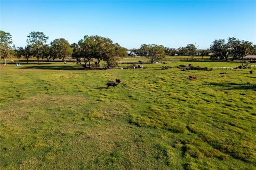
POLYGON ((1 66, 0 169, 256 169, 256 69, 185 63, 241 65, 1 66))

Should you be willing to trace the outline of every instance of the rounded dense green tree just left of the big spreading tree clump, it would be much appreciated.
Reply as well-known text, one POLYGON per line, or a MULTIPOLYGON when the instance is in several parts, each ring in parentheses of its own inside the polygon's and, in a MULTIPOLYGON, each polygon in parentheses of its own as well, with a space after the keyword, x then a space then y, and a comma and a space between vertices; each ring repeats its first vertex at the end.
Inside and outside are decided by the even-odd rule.
POLYGON ((64 38, 55 39, 51 42, 51 56, 59 58, 66 63, 66 58, 72 55, 72 48, 64 38))

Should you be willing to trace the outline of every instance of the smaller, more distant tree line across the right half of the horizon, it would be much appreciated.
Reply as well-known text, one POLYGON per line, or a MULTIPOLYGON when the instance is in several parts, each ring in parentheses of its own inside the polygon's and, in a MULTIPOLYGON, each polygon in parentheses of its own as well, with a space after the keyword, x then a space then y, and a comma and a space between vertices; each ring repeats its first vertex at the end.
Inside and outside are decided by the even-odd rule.
POLYGON ((154 60, 162 60, 166 55, 167 56, 191 56, 192 58, 195 55, 208 56, 210 55, 211 60, 226 60, 231 58, 231 60, 243 59, 246 55, 256 55, 256 45, 249 41, 240 41, 237 38, 228 38, 226 42, 225 39, 216 39, 210 45, 210 48, 207 50, 198 50, 195 44, 188 44, 186 47, 179 48, 169 48, 164 46, 158 46, 155 44, 147 45, 142 44, 140 48, 133 48, 131 51, 134 51, 140 56, 148 56, 151 60, 151 63, 154 60))

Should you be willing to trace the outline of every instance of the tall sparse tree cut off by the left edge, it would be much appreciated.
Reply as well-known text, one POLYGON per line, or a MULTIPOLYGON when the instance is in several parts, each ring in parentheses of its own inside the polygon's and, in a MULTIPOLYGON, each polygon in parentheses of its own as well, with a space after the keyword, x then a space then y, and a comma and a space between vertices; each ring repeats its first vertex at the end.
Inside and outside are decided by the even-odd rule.
POLYGON ((13 52, 11 44, 12 44, 11 34, 0 30, 0 55, 1 55, 1 59, 4 60, 4 66, 6 65, 6 58, 9 57, 13 52))

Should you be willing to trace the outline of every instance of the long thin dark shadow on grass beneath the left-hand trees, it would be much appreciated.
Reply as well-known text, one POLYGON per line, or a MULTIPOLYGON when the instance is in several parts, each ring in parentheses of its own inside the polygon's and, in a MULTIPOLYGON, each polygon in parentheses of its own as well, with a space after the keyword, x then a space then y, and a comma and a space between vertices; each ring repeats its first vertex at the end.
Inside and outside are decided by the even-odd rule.
POLYGON ((74 66, 25 66, 18 67, 19 69, 41 69, 41 70, 85 70, 82 67, 74 67, 74 66))

